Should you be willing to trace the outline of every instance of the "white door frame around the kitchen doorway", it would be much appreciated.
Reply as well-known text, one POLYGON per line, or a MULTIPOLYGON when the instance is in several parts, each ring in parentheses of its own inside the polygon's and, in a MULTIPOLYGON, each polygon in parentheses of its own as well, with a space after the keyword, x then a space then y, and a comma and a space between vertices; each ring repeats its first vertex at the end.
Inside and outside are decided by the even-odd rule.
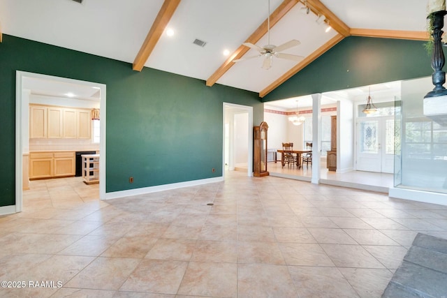
MULTIPOLYGON (((75 79, 68 79, 66 77, 55 77, 52 75, 42 75, 39 73, 28 73, 22 70, 16 70, 15 73, 15 212, 20 212, 23 209, 23 135, 29 135, 29 126, 24 125, 24 117, 29 118, 29 104, 24 103, 24 78, 36 78, 42 80, 52 80, 56 82, 64 82, 71 84, 82 84, 89 87, 96 87, 100 90, 100 107, 101 119, 100 121, 100 141, 99 141, 99 199, 105 199, 105 84, 87 82, 75 79), (27 132, 27 133, 24 133, 27 132)), ((28 122, 28 121, 27 121, 28 122)))

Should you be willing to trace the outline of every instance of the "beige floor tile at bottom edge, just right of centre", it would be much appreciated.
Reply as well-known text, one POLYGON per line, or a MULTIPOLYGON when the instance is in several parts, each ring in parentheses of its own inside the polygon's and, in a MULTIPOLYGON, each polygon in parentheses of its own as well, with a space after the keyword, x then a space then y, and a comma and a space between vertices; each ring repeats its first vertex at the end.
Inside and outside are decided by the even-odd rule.
POLYGON ((298 297, 286 266, 240 264, 237 267, 237 297, 298 297))

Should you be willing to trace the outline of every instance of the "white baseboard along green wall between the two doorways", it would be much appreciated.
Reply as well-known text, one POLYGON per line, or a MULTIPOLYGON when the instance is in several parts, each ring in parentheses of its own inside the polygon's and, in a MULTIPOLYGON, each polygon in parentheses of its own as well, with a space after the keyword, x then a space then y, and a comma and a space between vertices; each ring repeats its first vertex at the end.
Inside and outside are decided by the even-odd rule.
POLYGON ((158 186, 135 188, 135 189, 131 189, 128 191, 114 191, 112 193, 106 193, 105 200, 130 197, 133 195, 144 195, 146 193, 157 193, 159 191, 170 191, 172 189, 177 189, 177 188, 198 186, 198 185, 210 184, 210 183, 221 182, 221 181, 223 181, 223 176, 215 177, 215 178, 208 178, 208 179, 184 181, 184 182, 178 182, 178 183, 173 183, 173 184, 163 184, 163 185, 158 185, 158 186))

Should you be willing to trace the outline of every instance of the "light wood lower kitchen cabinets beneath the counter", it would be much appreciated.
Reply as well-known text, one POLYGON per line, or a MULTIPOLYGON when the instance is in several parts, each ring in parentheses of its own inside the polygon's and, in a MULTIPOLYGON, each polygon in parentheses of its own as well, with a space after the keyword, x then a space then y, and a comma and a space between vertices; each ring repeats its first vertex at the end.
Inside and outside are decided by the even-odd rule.
POLYGON ((75 151, 29 152, 29 179, 75 175, 75 151))

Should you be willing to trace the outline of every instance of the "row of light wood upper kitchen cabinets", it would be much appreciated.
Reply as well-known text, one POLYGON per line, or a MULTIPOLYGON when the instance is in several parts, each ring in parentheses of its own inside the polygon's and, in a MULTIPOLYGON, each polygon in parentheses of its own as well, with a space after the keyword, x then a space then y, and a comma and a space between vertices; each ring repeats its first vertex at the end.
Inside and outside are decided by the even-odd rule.
POLYGON ((89 139, 91 110, 29 105, 30 138, 89 139))

